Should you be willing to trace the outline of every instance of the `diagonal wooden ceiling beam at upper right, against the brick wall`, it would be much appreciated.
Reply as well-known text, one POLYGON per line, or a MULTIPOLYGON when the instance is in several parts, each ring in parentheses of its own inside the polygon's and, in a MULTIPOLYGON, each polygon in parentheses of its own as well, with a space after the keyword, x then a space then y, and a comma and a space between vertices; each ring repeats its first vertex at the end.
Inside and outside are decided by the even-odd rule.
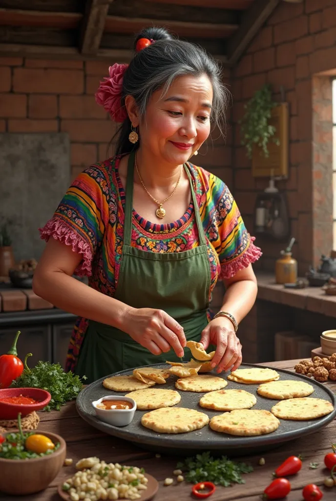
POLYGON ((280 0, 255 0, 242 14, 239 29, 227 42, 227 57, 235 65, 280 0))

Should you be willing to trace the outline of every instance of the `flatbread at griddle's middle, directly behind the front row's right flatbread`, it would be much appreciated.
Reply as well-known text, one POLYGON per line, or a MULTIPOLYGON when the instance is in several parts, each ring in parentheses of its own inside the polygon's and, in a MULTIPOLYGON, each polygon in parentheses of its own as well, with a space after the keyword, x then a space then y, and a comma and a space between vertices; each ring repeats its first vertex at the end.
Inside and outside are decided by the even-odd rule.
POLYGON ((225 411, 250 409, 255 404, 255 396, 245 390, 210 391, 199 400, 199 405, 201 407, 225 411))

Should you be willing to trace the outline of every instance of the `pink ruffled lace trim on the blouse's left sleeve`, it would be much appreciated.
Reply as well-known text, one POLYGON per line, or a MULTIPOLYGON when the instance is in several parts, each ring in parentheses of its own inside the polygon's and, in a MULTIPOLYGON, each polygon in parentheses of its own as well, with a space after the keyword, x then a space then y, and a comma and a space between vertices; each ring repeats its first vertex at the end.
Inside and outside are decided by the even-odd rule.
POLYGON ((57 218, 50 219, 43 228, 38 228, 40 237, 46 242, 53 236, 66 245, 71 245, 73 252, 81 254, 83 259, 74 271, 79 277, 90 277, 92 275, 91 262, 92 253, 90 246, 73 229, 57 218))

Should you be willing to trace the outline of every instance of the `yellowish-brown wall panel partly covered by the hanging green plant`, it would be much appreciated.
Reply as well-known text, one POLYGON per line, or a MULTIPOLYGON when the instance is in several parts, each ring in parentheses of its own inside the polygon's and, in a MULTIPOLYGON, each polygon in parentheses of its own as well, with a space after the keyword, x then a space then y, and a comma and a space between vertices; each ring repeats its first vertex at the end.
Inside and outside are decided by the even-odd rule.
POLYGON ((267 148, 269 156, 265 157, 262 149, 255 145, 252 150, 253 177, 288 177, 288 103, 280 103, 272 110, 269 125, 276 129, 274 137, 279 139, 279 145, 269 141, 267 148))

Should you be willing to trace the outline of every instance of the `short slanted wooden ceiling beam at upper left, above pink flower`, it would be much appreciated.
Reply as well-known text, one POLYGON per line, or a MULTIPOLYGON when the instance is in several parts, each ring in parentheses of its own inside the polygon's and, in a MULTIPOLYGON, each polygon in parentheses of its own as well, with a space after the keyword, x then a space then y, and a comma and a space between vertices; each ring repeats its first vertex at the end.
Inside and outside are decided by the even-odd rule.
POLYGON ((108 7, 113 0, 86 0, 79 50, 82 54, 96 54, 105 28, 108 7))

